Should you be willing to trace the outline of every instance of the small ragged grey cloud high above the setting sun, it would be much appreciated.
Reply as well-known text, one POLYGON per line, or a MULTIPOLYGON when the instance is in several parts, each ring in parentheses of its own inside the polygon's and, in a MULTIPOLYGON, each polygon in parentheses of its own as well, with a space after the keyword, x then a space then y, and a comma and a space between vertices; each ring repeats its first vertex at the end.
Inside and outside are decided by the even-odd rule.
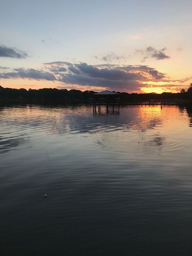
POLYGON ((161 59, 169 59, 170 56, 168 56, 167 54, 165 54, 166 47, 157 50, 155 48, 153 48, 152 46, 147 47, 146 49, 136 49, 135 50, 135 54, 141 54, 143 55, 143 59, 142 62, 145 61, 145 59, 147 58, 154 58, 156 60, 161 60, 161 59))

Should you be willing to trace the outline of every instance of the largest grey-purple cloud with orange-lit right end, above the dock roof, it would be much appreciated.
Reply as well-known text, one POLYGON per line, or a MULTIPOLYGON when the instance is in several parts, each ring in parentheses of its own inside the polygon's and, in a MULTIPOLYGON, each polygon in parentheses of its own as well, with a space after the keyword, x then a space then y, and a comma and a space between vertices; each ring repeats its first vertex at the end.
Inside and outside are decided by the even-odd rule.
POLYGON ((72 64, 69 62, 44 63, 45 67, 65 67, 66 72, 57 72, 57 80, 66 84, 67 88, 74 86, 105 87, 116 90, 138 90, 142 81, 159 81, 166 74, 144 65, 88 65, 87 63, 72 64), (69 86, 68 86, 69 85, 69 86))

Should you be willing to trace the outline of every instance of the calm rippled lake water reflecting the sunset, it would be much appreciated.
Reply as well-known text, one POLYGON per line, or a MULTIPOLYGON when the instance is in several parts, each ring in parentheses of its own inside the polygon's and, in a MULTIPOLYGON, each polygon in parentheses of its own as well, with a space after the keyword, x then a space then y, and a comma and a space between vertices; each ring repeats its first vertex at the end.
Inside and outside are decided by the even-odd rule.
POLYGON ((191 255, 191 153, 185 107, 0 108, 0 255, 191 255))

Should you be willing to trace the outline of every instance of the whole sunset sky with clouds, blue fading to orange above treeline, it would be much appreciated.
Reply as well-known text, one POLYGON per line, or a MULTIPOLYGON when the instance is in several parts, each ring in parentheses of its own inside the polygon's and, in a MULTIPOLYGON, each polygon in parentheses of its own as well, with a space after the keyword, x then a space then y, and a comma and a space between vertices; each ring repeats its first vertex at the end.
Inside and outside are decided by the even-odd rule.
POLYGON ((192 83, 191 13, 191 0, 2 0, 0 85, 187 90, 192 83))

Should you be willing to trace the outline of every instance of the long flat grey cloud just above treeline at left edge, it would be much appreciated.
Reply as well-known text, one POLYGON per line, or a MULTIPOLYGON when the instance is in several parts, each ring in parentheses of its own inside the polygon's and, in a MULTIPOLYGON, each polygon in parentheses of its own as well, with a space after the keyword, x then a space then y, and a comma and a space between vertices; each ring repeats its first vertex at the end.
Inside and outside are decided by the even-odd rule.
POLYGON ((9 79, 9 78, 29 78, 35 80, 56 80, 55 75, 45 72, 42 70, 36 70, 33 68, 15 68, 13 72, 4 72, 0 74, 0 78, 9 79))

